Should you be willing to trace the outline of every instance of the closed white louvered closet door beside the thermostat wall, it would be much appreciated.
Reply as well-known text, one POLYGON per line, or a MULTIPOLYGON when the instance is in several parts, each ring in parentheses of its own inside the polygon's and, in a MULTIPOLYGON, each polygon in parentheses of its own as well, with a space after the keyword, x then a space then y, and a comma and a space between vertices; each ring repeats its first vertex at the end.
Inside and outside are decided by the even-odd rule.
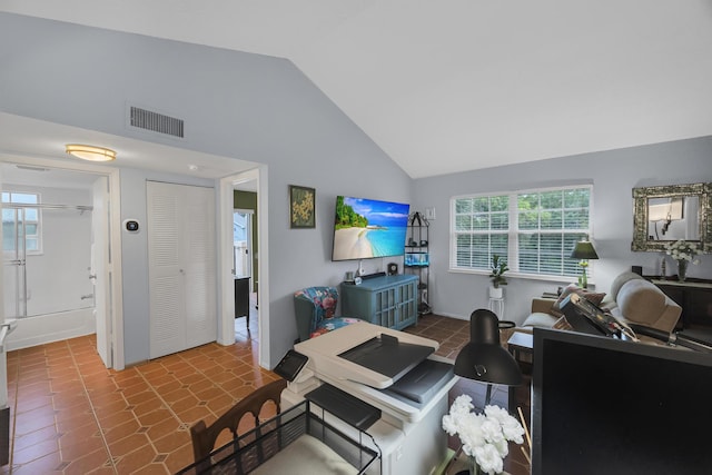
POLYGON ((210 188, 149 181, 150 357, 216 339, 215 199, 210 188))

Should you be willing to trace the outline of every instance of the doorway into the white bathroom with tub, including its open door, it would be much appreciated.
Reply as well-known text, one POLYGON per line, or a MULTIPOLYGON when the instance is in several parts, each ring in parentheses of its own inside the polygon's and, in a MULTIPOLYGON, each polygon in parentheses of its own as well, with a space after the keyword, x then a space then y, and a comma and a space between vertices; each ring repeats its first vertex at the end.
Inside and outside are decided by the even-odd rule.
POLYGON ((17 324, 7 349, 96 333, 105 365, 122 369, 121 303, 111 298, 121 294, 120 268, 109 260, 120 251, 119 226, 110 221, 118 219, 118 171, 30 158, 2 160, 0 169, 7 239, 0 319, 17 324), (10 202, 10 192, 36 199, 10 202))

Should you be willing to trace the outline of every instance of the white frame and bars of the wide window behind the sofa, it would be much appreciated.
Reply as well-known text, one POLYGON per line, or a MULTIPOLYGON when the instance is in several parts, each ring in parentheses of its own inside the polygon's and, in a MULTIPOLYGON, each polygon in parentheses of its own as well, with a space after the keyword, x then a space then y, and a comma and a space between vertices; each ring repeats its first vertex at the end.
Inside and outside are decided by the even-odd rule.
MULTIPOLYGON (((535 188, 535 189, 526 189, 526 190, 512 190, 512 191, 501 191, 501 192, 487 192, 487 194, 469 194, 469 195, 461 195, 461 196, 454 196, 451 197, 451 212, 449 212, 449 235, 451 235, 451 239, 449 239, 449 271, 452 273, 465 273, 465 274, 479 274, 479 275, 488 275, 491 271, 491 260, 492 260, 492 256, 494 254, 498 254, 501 255, 501 257, 505 258, 507 261, 507 265, 510 267, 510 271, 507 273, 507 276, 511 277, 522 277, 522 278, 531 278, 531 279, 540 279, 540 280, 567 280, 571 277, 577 277, 581 274, 581 268, 577 266, 577 260, 576 259, 571 259, 571 261, 568 263, 567 260, 564 260, 564 265, 563 265, 563 269, 561 273, 541 273, 541 271, 536 271, 536 273, 532 273, 532 271, 523 271, 520 269, 520 248, 518 248, 518 236, 521 234, 564 234, 564 235, 576 235, 576 238, 592 238, 593 236, 593 185, 571 185, 571 186, 563 186, 563 187, 550 187, 550 188, 535 188), (518 196, 522 194, 543 194, 543 192, 551 192, 551 191, 565 191, 565 190, 573 190, 573 189, 587 189, 589 190, 589 207, 587 207, 587 211, 589 211, 589 222, 587 222, 587 228, 577 228, 577 229, 557 229, 557 230, 548 230, 548 229, 542 229, 542 228, 536 228, 536 229, 520 229, 518 227, 518 217, 520 217, 520 210, 518 210, 518 196), (455 229, 455 225, 456 225, 456 216, 458 216, 456 214, 456 204, 458 200, 462 199, 473 199, 473 198, 485 198, 485 197, 501 197, 501 196, 507 196, 508 197, 508 227, 506 230, 504 230, 504 232, 507 235, 507 250, 506 250, 506 255, 503 255, 503 253, 496 250, 496 249, 492 249, 492 247, 488 247, 486 253, 487 253, 487 259, 486 259, 486 265, 482 265, 482 266, 477 266, 477 267, 471 267, 471 266, 463 266, 463 265, 458 265, 457 263, 457 253, 458 253, 458 248, 457 248, 457 238, 458 236, 462 235, 496 235, 500 234, 500 230, 497 229, 487 229, 487 230, 479 230, 479 231, 463 231, 463 230, 456 230, 455 229)), ((563 204, 562 204, 562 210, 565 209, 563 208, 563 204)), ((459 215, 462 216, 462 215, 459 215)), ((574 239, 574 241, 577 239, 574 239)), ((573 244, 571 249, 573 250, 573 244)), ((566 254, 568 253, 567 249, 562 249, 562 257, 564 259, 567 259, 566 254)), ((479 259, 482 261, 482 258, 479 259)), ((537 263, 541 263, 541 260, 537 258, 537 263)), ((592 263, 590 263, 590 266, 587 268, 587 274, 589 274, 589 280, 593 280, 593 266, 591 265, 592 263)))

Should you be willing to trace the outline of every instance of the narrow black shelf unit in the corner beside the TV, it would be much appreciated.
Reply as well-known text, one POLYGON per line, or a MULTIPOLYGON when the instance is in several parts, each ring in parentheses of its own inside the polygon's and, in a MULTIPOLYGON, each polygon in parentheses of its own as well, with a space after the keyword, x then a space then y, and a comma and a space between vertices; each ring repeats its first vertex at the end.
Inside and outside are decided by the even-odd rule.
POLYGON ((406 231, 404 274, 418 277, 418 315, 432 314, 428 303, 431 253, 428 221, 421 212, 414 212, 408 219, 406 231))

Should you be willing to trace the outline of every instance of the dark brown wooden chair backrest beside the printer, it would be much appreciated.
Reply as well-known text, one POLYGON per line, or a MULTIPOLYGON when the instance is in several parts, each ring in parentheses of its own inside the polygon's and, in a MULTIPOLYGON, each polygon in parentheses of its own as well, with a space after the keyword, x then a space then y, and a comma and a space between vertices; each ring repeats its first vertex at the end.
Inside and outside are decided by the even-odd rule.
POLYGON ((195 461, 204 459, 216 448, 215 442, 226 428, 230 431, 233 438, 237 438, 237 426, 245 414, 251 414, 255 418, 255 426, 258 426, 259 413, 265 403, 274 402, 277 407, 277 414, 279 414, 281 412, 279 400, 285 387, 287 387, 286 379, 271 382, 255 389, 209 426, 206 426, 204 420, 199 420, 190 427, 195 461))

